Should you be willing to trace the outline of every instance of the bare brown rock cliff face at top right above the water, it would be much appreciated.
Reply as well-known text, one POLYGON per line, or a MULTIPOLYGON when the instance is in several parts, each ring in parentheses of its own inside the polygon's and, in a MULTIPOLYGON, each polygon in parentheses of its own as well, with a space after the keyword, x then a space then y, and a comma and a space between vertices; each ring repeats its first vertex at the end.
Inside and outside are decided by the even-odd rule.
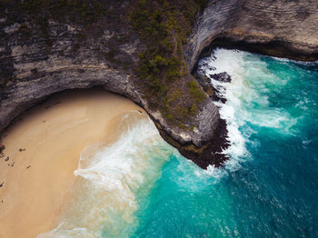
POLYGON ((213 46, 312 61, 318 58, 317 1, 214 0, 197 19, 186 52, 194 69, 213 46))

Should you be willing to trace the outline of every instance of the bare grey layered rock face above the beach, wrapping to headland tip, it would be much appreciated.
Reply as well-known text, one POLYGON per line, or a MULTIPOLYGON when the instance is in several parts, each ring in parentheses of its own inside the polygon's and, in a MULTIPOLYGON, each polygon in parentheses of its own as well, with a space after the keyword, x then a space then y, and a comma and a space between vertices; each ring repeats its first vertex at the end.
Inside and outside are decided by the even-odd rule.
MULTIPOLYGON (((125 5, 119 7, 123 9, 117 12, 124 12, 125 5)), ((217 108, 206 97, 193 116, 192 130, 169 123, 159 110, 151 108, 144 97, 144 83, 134 70, 144 45, 121 15, 110 18, 104 19, 103 29, 93 25, 97 28, 93 30, 50 19, 45 35, 30 22, 0 19, 0 33, 4 36, 0 39, 0 131, 51 94, 101 86, 141 105, 164 138, 182 154, 191 150, 196 162, 195 158, 202 154, 198 148, 211 144, 214 138, 219 125, 217 108)), ((213 161, 202 166, 208 164, 213 161)))

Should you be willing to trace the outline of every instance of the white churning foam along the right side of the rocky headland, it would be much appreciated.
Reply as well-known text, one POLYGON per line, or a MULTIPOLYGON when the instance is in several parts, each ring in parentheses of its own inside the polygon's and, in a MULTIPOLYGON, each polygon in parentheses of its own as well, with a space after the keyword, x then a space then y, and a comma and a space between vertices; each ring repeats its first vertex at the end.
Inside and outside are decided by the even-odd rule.
MULTIPOLYGON (((268 92, 287 84, 288 78, 275 76, 267 67, 255 55, 219 48, 210 57, 199 62, 199 70, 211 79, 214 87, 227 100, 225 104, 214 103, 220 107, 220 116, 226 121, 231 144, 224 150, 231 157, 225 164, 227 170, 237 170, 241 162, 251 157, 246 144, 255 132, 248 124, 273 128, 283 134, 295 133, 293 125, 297 123, 297 119, 283 108, 271 106, 268 98, 268 92), (210 76, 223 72, 231 76, 232 82, 219 82, 210 76)), ((209 166, 208 173, 220 174, 220 171, 209 166)))

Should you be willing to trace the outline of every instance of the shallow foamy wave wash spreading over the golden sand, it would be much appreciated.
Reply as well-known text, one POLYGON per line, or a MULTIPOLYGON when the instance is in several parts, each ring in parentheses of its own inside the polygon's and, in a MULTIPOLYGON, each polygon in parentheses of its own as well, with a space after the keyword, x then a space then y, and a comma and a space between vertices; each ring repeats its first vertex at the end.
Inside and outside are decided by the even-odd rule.
POLYGON ((45 237, 129 237, 138 225, 134 212, 160 176, 175 149, 153 122, 126 114, 114 144, 94 144, 81 154, 72 199, 61 223, 45 237))

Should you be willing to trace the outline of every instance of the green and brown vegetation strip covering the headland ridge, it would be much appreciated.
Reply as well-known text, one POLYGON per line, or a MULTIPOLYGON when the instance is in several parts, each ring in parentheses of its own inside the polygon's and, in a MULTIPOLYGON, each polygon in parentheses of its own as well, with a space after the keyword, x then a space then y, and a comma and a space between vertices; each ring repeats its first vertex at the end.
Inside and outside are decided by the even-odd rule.
POLYGON ((180 127, 205 98, 183 59, 184 45, 204 3, 140 0, 132 3, 129 15, 146 45, 139 55, 137 74, 144 82, 148 102, 180 127))

